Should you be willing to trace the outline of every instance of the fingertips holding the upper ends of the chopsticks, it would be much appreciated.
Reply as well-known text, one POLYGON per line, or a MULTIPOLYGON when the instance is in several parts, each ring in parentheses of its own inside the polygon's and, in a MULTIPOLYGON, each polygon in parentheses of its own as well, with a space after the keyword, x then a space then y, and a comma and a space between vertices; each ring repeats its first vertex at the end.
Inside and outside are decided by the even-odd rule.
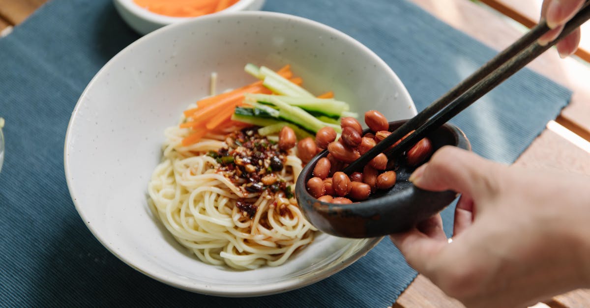
MULTIPOLYGON (((582 8, 585 0, 544 0, 541 9, 541 18, 545 19, 552 30, 539 39, 539 44, 545 45, 555 40, 563 30, 563 25, 572 19, 573 15, 582 8)), ((571 55, 578 50, 580 44, 580 29, 573 31, 556 44, 559 55, 562 58, 571 55)))

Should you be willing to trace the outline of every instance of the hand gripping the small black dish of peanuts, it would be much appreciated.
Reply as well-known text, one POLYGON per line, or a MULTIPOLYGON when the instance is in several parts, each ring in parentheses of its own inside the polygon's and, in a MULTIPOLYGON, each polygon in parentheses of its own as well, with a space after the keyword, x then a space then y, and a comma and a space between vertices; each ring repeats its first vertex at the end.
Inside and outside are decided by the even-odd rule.
POLYGON ((590 286, 590 178, 532 172, 447 146, 411 181, 461 193, 453 241, 440 215, 391 240, 466 306, 522 307, 590 286))

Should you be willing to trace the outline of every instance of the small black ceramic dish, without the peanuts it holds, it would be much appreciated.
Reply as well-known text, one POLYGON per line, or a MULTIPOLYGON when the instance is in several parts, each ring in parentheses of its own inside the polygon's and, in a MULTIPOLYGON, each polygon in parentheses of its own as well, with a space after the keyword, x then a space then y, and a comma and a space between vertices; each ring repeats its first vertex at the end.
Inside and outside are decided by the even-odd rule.
MULTIPOLYGON (((405 122, 389 122, 389 131, 392 132, 405 122)), ((471 150, 465 134, 453 124, 444 124, 427 137, 432 141, 434 150, 445 145, 471 150)), ((326 155, 328 152, 324 150, 303 168, 297 179, 295 196, 307 220, 327 234, 368 238, 406 231, 440 212, 457 196, 453 191, 431 192, 417 188, 408 181, 415 167, 399 163, 395 185, 387 191, 378 191, 369 199, 353 204, 318 201, 307 192, 306 183, 312 178, 317 160, 326 155)), ((404 159, 398 160, 401 162, 404 159)))

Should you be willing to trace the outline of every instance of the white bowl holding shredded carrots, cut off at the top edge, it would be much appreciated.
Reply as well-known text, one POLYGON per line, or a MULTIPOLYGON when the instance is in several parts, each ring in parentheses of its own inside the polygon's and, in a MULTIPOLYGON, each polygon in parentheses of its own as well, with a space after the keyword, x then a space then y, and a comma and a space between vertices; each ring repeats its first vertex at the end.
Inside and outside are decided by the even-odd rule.
MULTIPOLYGON (((139 34, 148 34, 165 25, 187 21, 200 17, 171 17, 156 14, 141 8, 133 0, 113 0, 114 6, 127 24, 139 34)), ((238 11, 257 11, 264 5, 265 0, 240 0, 234 5, 219 11, 217 14, 238 11)))

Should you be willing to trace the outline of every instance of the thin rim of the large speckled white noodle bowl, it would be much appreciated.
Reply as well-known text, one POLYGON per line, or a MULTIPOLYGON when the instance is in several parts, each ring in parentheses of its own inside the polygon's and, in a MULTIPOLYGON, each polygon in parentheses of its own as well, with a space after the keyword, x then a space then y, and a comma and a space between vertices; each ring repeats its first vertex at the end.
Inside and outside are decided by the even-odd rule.
MULTIPOLYGON (((70 170, 70 164, 68 162, 68 156, 69 156, 68 143, 71 142, 71 138, 73 137, 72 127, 73 127, 74 123, 76 122, 78 110, 80 109, 81 104, 84 101, 84 97, 86 97, 87 93, 94 86, 94 83, 97 80, 97 78, 99 78, 99 76, 101 76, 101 74, 104 74, 105 71, 109 70, 112 63, 114 62, 114 60, 116 60, 116 58, 120 57, 122 54, 126 53, 126 50, 142 44, 143 41, 150 40, 150 38, 153 35, 156 35, 160 32, 173 31, 176 27, 183 27, 186 23, 192 23, 192 22, 198 23, 198 22, 207 21, 208 19, 219 19, 219 18, 231 17, 231 16, 240 17, 240 16, 251 16, 251 15, 263 16, 263 17, 274 17, 274 18, 289 18, 289 19, 296 21, 296 22, 302 22, 302 23, 307 24, 309 26, 317 27, 317 28, 319 28, 320 31, 326 32, 326 34, 334 35, 335 37, 339 38, 340 40, 345 40, 349 44, 356 45, 357 48, 361 48, 362 50, 365 51, 365 53, 369 57, 372 57, 373 58, 372 60, 377 61, 378 63, 381 63, 381 65, 383 65, 384 67, 387 68, 387 70, 389 71, 389 74, 391 74, 391 76, 389 76, 389 77, 391 77, 391 80, 394 81, 394 83, 398 83, 401 86, 400 92, 398 94, 399 94, 401 100, 408 102, 408 106, 406 106, 408 109, 408 112, 411 114, 416 113, 414 103, 412 102, 412 99, 409 96, 408 91, 403 86, 401 80, 399 80, 399 77, 396 76, 394 71, 392 71, 391 68, 389 68, 388 65, 383 60, 381 60, 381 58, 379 58, 375 53, 373 53, 371 50, 369 50, 369 48, 367 48, 365 45, 361 44, 360 42, 356 41, 354 38, 350 37, 349 35, 346 35, 343 32, 340 32, 338 30, 335 30, 332 27, 329 27, 327 25, 321 24, 316 21, 312 21, 310 19, 296 17, 296 16, 288 15, 288 14, 282 14, 282 13, 277 13, 277 12, 256 11, 256 12, 228 12, 227 14, 223 14, 223 15, 204 16, 204 17, 201 17, 198 19, 194 19, 192 21, 182 22, 179 24, 171 24, 167 27, 160 28, 159 30, 156 30, 156 31, 154 31, 142 38, 139 38, 137 41, 133 42, 128 47, 126 47, 122 51, 120 51, 119 54, 115 55, 108 63, 106 63, 100 69, 100 71, 96 74, 96 76, 93 77, 93 79, 90 81, 90 83, 88 84, 86 89, 83 91, 83 93, 80 96, 80 99, 78 100, 78 102, 77 102, 76 106, 74 107, 74 110, 71 114, 70 122, 68 123, 68 128, 67 128, 67 132, 66 132, 66 136, 65 136, 65 144, 64 144, 64 169, 65 169, 65 178, 67 181, 68 189, 70 190, 71 198, 74 202, 74 205, 75 205, 78 213, 80 214, 81 218, 83 219, 84 223, 87 225, 89 230, 93 233, 93 235, 97 238, 97 240, 99 240, 100 243, 104 245, 104 247, 106 247, 109 251, 111 251, 111 253, 116 255, 116 257, 118 257, 120 260, 124 261, 129 266, 135 268, 137 271, 140 271, 141 273, 144 273, 147 276, 155 278, 156 280, 159 280, 163 283, 178 287, 179 289, 194 291, 196 293, 201 293, 201 294, 210 294, 210 295, 215 295, 215 296, 227 296, 227 297, 250 297, 250 296, 270 295, 270 294, 282 293, 284 291, 298 289, 300 287, 304 287, 309 284, 315 283, 317 281, 323 280, 324 278, 332 276, 332 274, 335 274, 338 271, 343 270, 344 268, 348 267, 350 264, 352 264, 356 260, 358 260, 360 257, 362 257, 363 255, 368 253, 368 251, 371 250, 373 247, 375 247, 375 245, 378 244, 379 241, 381 241, 381 239, 382 239, 382 238, 369 239, 366 242, 366 244, 363 245, 363 247, 360 247, 353 254, 348 255, 348 257, 345 260, 340 260, 340 259, 336 260, 339 264, 337 264, 337 266, 332 266, 332 268, 330 268, 329 271, 322 271, 322 269, 320 268, 319 270, 313 271, 312 273, 304 274, 303 277, 293 277, 293 278, 290 278, 289 280, 272 281, 271 283, 257 284, 257 285, 252 285, 252 286, 240 285, 240 288, 241 288, 240 290, 232 290, 231 285, 228 285, 228 284, 220 284, 218 286, 212 286, 211 284, 208 284, 207 282, 202 282, 202 281, 196 281, 196 283, 195 282, 183 283, 183 281, 172 280, 171 277, 166 276, 165 274, 154 272, 154 271, 150 270, 150 268, 137 267, 131 258, 127 257, 127 255, 119 254, 117 252, 117 250, 115 249, 115 247, 112 247, 112 245, 110 245, 110 243, 106 240, 106 238, 104 238, 103 235, 101 234, 101 230, 97 230, 93 224, 90 224, 90 217, 87 217, 86 212, 84 211, 84 207, 77 201, 78 198, 77 198, 76 192, 73 190, 73 183, 70 180, 71 173, 73 171, 70 170)), ((147 187, 147 183, 146 183, 146 187, 147 187)), ((199 262, 199 261, 195 258, 195 262, 199 262)))

